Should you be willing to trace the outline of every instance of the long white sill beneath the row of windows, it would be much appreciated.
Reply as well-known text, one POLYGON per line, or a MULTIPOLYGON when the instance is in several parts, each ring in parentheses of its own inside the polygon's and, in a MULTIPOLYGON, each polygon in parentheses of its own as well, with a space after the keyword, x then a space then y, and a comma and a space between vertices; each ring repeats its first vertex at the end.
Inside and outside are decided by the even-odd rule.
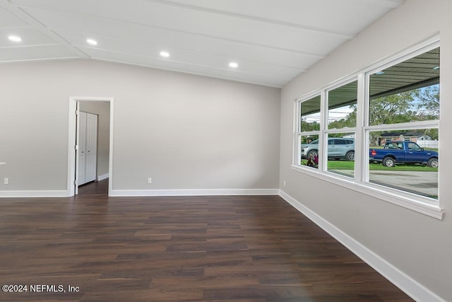
POLYGON ((346 178, 341 175, 327 172, 321 173, 318 170, 304 168, 298 165, 292 165, 291 167, 292 170, 296 170, 327 182, 332 182, 335 185, 347 187, 347 189, 367 194, 371 197, 381 199, 385 202, 390 202, 391 204, 396 204, 412 211, 417 211, 421 214, 431 216, 439 220, 442 220, 444 216, 444 209, 441 209, 437 204, 430 202, 428 198, 417 197, 414 194, 393 190, 390 187, 383 187, 367 182, 356 182, 353 178, 346 178))

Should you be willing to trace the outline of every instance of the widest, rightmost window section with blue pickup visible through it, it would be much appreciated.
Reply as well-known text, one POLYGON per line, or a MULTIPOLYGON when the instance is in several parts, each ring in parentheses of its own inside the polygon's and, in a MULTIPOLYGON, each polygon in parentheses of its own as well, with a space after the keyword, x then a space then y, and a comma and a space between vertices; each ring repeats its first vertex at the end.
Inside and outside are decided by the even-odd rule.
POLYGON ((369 74, 369 182, 438 199, 439 68, 436 47, 369 74))

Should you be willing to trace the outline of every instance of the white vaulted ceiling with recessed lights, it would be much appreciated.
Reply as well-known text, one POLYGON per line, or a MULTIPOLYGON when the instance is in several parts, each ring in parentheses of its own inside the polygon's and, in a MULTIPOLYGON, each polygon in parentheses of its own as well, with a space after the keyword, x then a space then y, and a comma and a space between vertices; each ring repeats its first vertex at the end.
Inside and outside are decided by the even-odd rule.
POLYGON ((281 87, 403 1, 0 0, 0 62, 100 59, 281 87))

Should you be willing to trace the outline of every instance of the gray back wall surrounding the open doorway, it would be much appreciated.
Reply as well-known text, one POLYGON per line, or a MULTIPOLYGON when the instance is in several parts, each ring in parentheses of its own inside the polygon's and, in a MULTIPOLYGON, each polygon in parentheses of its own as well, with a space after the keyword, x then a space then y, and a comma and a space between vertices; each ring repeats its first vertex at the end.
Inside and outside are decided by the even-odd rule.
POLYGON ((113 190, 278 189, 278 88, 84 60, 0 83, 0 192, 67 189, 70 96, 114 98, 113 190))

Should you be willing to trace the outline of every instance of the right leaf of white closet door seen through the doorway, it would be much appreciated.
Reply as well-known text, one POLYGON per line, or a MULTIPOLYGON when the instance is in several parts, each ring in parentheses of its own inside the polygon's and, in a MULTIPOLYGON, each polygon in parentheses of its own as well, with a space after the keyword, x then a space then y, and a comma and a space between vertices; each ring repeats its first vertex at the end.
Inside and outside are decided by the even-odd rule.
POLYGON ((86 115, 85 182, 96 180, 97 174, 97 115, 86 115))

